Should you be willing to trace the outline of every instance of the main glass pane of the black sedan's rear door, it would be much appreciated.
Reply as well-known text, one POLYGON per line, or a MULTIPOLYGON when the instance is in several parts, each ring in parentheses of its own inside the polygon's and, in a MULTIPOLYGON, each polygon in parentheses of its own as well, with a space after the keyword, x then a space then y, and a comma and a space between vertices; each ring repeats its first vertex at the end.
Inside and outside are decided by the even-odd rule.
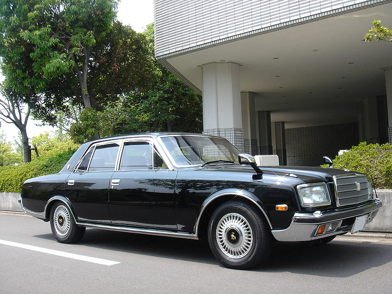
POLYGON ((89 172, 114 171, 118 151, 118 144, 97 146, 91 159, 89 172))

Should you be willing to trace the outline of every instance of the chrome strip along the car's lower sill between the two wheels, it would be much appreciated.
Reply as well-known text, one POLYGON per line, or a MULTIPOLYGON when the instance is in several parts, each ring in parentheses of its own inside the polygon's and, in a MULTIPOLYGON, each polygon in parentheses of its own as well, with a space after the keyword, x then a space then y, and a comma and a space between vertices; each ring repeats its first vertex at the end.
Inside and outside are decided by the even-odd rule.
POLYGON ((110 231, 198 240, 196 234, 183 233, 183 232, 171 232, 171 231, 164 231, 158 229, 123 227, 123 226, 116 226, 110 224, 97 224, 97 223, 79 222, 79 221, 76 221, 76 224, 79 226, 99 228, 99 229, 110 230, 110 231))

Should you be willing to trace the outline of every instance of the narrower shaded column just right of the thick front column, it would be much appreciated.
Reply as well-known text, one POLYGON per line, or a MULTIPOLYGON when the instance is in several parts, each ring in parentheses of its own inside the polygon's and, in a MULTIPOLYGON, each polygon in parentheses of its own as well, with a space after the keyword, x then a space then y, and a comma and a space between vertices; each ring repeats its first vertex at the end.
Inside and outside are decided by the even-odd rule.
POLYGON ((256 134, 256 111, 254 93, 241 93, 242 126, 244 129, 245 153, 256 155, 258 152, 256 134))

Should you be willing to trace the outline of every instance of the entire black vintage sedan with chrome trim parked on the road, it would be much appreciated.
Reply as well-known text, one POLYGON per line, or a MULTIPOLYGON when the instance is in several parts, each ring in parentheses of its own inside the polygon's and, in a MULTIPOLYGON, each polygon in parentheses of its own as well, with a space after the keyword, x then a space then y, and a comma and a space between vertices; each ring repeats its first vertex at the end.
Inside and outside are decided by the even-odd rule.
POLYGON ((275 240, 326 243, 363 230, 382 206, 363 174, 260 168, 221 137, 180 133, 83 144, 59 173, 25 181, 21 203, 61 243, 86 227, 207 237, 234 269, 261 263, 275 240))

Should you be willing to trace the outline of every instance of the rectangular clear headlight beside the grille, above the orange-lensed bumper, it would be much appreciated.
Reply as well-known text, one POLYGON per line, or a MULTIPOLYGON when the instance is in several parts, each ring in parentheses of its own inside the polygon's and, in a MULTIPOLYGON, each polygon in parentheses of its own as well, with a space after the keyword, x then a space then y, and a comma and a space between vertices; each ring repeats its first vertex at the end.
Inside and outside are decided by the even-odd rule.
POLYGON ((299 199, 303 207, 316 207, 331 204, 325 183, 302 184, 297 186, 299 199))

